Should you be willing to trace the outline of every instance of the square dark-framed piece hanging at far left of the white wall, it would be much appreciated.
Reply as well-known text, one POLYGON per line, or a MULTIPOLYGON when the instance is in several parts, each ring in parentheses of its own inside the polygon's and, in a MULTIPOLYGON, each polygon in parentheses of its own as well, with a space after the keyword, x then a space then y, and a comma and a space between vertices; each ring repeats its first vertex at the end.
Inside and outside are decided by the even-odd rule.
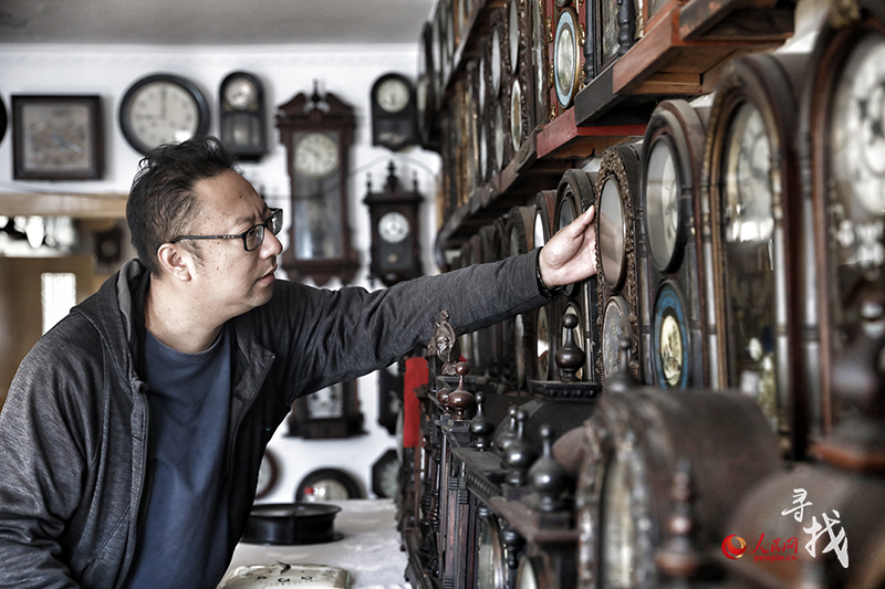
POLYGON ((101 96, 12 96, 12 177, 102 178, 101 96))

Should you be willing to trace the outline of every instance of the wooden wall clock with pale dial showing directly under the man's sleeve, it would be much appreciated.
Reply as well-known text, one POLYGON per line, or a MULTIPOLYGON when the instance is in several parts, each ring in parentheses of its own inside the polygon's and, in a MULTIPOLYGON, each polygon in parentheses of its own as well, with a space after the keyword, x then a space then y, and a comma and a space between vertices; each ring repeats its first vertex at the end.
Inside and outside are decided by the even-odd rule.
POLYGON ((287 418, 289 435, 308 440, 350 438, 363 433, 363 413, 353 381, 336 382, 300 397, 287 418))

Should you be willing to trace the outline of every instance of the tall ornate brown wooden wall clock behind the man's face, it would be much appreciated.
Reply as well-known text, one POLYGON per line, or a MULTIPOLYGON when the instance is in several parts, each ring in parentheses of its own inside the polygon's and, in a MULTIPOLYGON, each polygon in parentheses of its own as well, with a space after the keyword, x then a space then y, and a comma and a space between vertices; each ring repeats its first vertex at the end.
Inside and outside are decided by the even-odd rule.
POLYGON ((360 267, 347 224, 354 109, 331 92, 320 95, 314 82, 311 96, 300 93, 279 112, 277 126, 287 148, 292 198, 283 270, 319 285, 333 277, 346 284, 360 267))

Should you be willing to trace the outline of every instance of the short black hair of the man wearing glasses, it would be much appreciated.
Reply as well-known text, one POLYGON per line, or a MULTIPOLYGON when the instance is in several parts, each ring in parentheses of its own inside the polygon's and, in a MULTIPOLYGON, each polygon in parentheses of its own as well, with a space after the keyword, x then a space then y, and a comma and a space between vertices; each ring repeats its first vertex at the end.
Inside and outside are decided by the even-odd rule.
MULTIPOLYGON (((188 233, 200 212, 194 185, 236 169, 232 154, 216 137, 162 145, 142 159, 129 190, 126 221, 138 259, 152 274, 160 275, 159 246, 188 233)), ((185 246, 199 259, 196 244, 185 246)))

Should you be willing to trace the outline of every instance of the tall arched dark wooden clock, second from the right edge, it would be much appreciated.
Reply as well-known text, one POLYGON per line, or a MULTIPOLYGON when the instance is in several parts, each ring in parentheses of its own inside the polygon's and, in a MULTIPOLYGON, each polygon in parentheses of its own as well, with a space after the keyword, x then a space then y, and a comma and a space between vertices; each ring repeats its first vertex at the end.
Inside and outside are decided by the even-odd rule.
POLYGON ((791 294, 799 260, 801 194, 793 133, 798 107, 771 55, 732 60, 710 113, 710 177, 719 382, 754 398, 789 443, 798 380, 789 341, 801 332, 791 294))

